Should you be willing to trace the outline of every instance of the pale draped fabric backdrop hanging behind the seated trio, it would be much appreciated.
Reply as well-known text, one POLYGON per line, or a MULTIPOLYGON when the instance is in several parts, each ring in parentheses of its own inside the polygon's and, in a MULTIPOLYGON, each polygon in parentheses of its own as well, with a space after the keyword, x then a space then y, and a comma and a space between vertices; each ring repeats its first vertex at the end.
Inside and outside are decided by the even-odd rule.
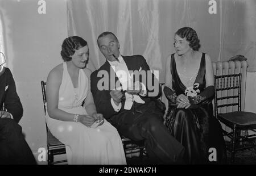
POLYGON ((201 52, 212 61, 226 61, 235 55, 249 60, 256 70, 255 0, 216 0, 216 14, 209 13, 203 0, 69 0, 68 35, 89 43, 88 68, 105 62, 97 37, 111 31, 119 39, 122 55, 143 55, 151 70, 159 70, 164 82, 167 57, 174 52, 174 33, 181 27, 196 30, 201 52))

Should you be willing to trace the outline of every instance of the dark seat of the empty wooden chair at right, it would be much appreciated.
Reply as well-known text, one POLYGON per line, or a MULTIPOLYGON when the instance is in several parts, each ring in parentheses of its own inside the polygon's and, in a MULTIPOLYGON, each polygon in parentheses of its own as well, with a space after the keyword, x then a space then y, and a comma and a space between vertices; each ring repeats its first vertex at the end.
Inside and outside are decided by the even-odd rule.
POLYGON ((229 121, 231 123, 238 124, 241 126, 256 124, 256 114, 253 112, 245 112, 245 111, 228 112, 225 114, 218 114, 218 118, 219 119, 223 118, 226 121, 229 121))

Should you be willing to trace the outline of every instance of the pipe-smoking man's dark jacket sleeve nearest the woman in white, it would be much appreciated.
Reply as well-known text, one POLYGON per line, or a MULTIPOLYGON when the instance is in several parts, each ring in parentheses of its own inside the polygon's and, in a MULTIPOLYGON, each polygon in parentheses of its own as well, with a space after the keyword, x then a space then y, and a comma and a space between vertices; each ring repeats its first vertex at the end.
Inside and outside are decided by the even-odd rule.
POLYGON ((110 119, 113 115, 118 114, 110 102, 111 95, 109 90, 99 90, 97 72, 90 75, 90 91, 92 91, 94 103, 96 105, 97 113, 103 114, 105 119, 110 119))

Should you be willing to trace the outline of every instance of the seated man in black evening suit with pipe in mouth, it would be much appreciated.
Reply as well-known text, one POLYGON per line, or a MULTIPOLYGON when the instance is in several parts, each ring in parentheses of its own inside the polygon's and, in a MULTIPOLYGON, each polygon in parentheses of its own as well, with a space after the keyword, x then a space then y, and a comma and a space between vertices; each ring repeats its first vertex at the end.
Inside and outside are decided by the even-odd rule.
POLYGON ((101 33, 97 42, 106 58, 90 76, 97 112, 121 136, 144 140, 150 164, 181 164, 184 148, 163 125, 163 112, 155 103, 159 82, 144 57, 120 55, 119 41, 112 32, 101 33))

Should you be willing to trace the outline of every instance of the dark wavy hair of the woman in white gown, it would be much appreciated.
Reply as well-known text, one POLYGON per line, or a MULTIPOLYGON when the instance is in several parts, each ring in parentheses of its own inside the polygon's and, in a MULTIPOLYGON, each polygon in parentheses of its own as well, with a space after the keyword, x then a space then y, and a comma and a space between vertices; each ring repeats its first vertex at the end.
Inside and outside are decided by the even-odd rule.
POLYGON ((67 37, 61 45, 60 55, 65 62, 71 61, 71 56, 75 53, 75 50, 85 47, 86 45, 87 41, 79 36, 67 37))

